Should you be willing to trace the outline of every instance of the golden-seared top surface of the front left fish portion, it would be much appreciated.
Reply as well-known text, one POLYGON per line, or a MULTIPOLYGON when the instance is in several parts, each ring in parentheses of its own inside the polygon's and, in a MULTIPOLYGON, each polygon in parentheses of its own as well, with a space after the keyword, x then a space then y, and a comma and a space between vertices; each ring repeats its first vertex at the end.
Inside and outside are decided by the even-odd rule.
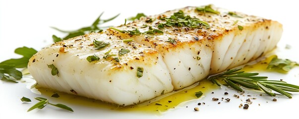
MULTIPOLYGON (((92 61, 90 64, 109 64, 111 69, 122 69, 123 67, 129 67, 129 63, 143 63, 144 65, 151 65, 153 61, 158 60, 159 53, 157 50, 140 45, 134 41, 124 43, 122 37, 116 37, 112 34, 104 33, 91 33, 83 36, 78 36, 72 39, 63 40, 53 44, 52 46, 43 49, 53 50, 49 55, 57 55, 61 57, 63 55, 68 55, 72 57, 77 57, 79 60, 86 60, 88 56, 96 55, 100 60, 92 61), (96 50, 93 44, 94 40, 103 41, 109 43, 105 48, 96 50), (129 53, 120 55, 120 50, 129 50, 129 53), (105 54, 108 53, 109 54, 105 54), (109 55, 106 59, 106 57, 109 55), (119 62, 115 60, 119 59, 119 62)), ((42 54, 38 53, 30 59, 30 62, 38 62, 42 60, 42 54)), ((53 59, 55 60, 55 59, 53 59)), ((29 64, 30 65, 30 64, 29 64)))

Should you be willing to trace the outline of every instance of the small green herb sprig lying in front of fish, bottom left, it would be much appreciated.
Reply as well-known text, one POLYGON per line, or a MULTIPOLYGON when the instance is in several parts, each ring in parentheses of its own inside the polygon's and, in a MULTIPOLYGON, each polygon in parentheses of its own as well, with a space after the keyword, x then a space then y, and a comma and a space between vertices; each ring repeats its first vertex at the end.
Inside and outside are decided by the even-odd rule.
POLYGON ((30 109, 28 109, 27 112, 32 111, 32 110, 34 110, 36 108, 43 109, 48 104, 50 104, 52 106, 55 106, 55 107, 58 107, 58 108, 61 108, 61 109, 64 109, 64 110, 68 110, 70 112, 74 112, 70 107, 67 107, 66 105, 63 105, 63 104, 52 104, 46 98, 37 97, 35 99, 38 100, 38 101, 40 101, 40 102, 38 102, 37 104, 35 104, 34 106, 32 106, 30 109))

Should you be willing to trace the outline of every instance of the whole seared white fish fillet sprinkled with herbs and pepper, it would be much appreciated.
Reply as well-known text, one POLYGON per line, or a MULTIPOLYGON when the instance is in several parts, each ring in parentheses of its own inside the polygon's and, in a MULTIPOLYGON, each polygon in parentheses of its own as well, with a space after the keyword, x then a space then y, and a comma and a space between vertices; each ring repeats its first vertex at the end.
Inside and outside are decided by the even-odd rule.
POLYGON ((38 86, 127 106, 255 60, 281 38, 282 24, 277 21, 217 7, 212 7, 216 13, 200 10, 204 7, 141 17, 55 43, 34 55, 28 69, 38 86), (199 27, 167 25, 182 13, 200 20, 199 27), (95 41, 108 45, 97 49, 95 41), (89 56, 99 59, 88 61, 89 56), (58 71, 54 75, 53 66, 58 71))

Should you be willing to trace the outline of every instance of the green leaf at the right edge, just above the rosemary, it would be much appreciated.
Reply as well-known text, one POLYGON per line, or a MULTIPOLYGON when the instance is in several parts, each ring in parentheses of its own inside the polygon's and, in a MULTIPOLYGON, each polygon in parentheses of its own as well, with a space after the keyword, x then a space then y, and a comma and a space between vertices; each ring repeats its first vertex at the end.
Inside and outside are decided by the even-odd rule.
POLYGON ((277 56, 272 58, 270 63, 268 64, 267 69, 275 70, 277 72, 286 73, 290 71, 293 67, 299 66, 297 62, 288 59, 278 59, 277 56))

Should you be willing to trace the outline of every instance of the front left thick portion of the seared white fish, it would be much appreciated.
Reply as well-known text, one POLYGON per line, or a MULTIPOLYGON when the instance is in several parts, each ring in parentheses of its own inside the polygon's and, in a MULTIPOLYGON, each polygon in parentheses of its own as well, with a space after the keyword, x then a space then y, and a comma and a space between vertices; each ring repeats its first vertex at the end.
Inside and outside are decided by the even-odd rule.
POLYGON ((91 33, 45 48, 30 59, 28 69, 40 87, 123 106, 173 91, 169 70, 156 50, 124 43, 105 33, 91 33), (110 44, 96 50, 94 40, 110 44), (129 53, 120 55, 121 49, 129 53), (93 55, 100 60, 86 60, 93 55), (104 59, 107 55, 110 57, 104 59), (59 70, 57 75, 51 74, 51 64, 59 70), (144 70, 142 77, 137 77, 138 67, 144 70))

